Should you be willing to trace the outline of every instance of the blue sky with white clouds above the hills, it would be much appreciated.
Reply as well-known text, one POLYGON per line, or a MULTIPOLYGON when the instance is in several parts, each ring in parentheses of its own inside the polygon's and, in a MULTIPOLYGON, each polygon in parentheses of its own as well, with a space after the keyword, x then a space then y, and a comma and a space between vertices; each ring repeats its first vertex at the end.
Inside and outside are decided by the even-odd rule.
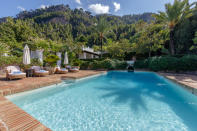
MULTIPOLYGON (((190 0, 190 2, 194 1, 190 0)), ((93 14, 139 14, 164 11, 164 4, 169 2, 173 0, 1 0, 0 17, 15 16, 23 10, 45 8, 57 4, 69 4, 72 9, 83 8, 93 14)))

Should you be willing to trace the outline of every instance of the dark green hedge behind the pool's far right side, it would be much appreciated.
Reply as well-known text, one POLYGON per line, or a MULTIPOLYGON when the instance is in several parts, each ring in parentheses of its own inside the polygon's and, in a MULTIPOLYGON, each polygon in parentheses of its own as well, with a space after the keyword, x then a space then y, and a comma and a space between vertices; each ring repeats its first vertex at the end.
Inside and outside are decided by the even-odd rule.
POLYGON ((134 67, 152 71, 196 71, 197 55, 151 57, 136 61, 134 67))

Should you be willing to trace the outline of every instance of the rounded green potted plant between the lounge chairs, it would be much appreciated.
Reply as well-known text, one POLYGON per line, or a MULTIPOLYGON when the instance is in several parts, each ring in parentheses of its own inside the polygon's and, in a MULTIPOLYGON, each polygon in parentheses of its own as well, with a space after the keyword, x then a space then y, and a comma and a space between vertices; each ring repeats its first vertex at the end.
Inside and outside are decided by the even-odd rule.
POLYGON ((49 74, 54 74, 55 72, 55 66, 57 64, 57 61, 59 60, 59 57, 56 55, 48 55, 46 59, 44 60, 48 68, 46 70, 49 71, 49 74))

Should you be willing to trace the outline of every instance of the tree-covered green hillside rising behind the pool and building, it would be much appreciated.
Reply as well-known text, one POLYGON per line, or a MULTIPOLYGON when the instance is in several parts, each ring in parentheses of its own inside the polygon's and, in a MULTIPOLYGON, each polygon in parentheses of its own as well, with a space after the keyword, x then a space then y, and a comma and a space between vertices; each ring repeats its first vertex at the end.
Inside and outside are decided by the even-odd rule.
POLYGON ((68 5, 23 11, 15 18, 0 19, 0 50, 3 49, 1 53, 9 51, 11 55, 21 56, 24 44, 28 44, 31 49, 67 50, 77 54, 85 45, 96 50, 102 48, 111 57, 121 59, 129 54, 196 53, 197 7, 194 4, 182 8, 177 15, 182 16, 185 10, 190 10, 191 15, 181 21, 176 19, 179 16, 174 16, 173 29, 168 28, 166 12, 94 16, 83 9, 72 10, 68 5), (161 19, 163 16, 165 20, 161 19))

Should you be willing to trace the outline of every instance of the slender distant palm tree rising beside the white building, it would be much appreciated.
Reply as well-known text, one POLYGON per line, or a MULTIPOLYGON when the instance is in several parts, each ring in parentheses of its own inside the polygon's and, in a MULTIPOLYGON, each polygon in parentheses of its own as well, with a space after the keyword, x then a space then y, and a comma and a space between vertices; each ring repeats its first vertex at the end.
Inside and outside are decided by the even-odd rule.
POLYGON ((101 17, 96 26, 97 26, 97 31, 99 32, 99 39, 100 39, 100 46, 101 46, 101 57, 102 57, 104 33, 107 30, 108 23, 103 17, 101 17))

